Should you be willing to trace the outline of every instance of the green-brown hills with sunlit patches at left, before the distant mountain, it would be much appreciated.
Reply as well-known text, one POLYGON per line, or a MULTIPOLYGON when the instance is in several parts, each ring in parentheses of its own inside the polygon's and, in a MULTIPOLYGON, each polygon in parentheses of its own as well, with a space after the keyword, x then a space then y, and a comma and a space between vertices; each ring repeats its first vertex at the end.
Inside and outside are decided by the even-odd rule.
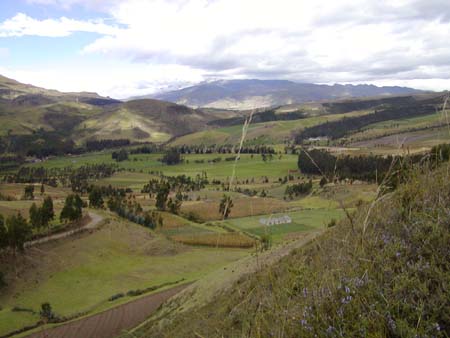
POLYGON ((124 103, 96 93, 61 93, 0 76, 0 136, 32 135, 39 130, 77 144, 124 138, 164 142, 199 131, 221 114, 153 99, 124 103))

